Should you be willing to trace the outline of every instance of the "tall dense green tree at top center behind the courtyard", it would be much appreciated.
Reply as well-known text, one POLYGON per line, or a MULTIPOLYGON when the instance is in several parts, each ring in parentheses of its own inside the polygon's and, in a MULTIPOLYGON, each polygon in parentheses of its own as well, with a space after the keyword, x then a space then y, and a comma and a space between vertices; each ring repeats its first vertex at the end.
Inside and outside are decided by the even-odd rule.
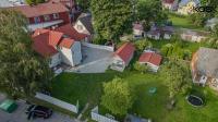
POLYGON ((94 29, 104 40, 119 41, 132 28, 132 0, 92 0, 94 29))

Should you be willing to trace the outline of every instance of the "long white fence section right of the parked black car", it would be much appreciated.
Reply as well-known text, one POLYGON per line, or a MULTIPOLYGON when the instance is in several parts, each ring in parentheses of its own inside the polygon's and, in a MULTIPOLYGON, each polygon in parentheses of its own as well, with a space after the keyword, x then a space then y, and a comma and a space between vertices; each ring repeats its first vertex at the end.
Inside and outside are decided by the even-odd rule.
POLYGON ((78 112, 78 102, 76 103, 76 106, 68 103, 65 101, 62 101, 60 99, 53 98, 51 96, 45 95, 45 94, 40 94, 40 93, 36 93, 36 98, 40 99, 40 100, 45 100, 47 102, 50 102, 52 105, 56 105, 62 109, 72 111, 74 113, 78 112))

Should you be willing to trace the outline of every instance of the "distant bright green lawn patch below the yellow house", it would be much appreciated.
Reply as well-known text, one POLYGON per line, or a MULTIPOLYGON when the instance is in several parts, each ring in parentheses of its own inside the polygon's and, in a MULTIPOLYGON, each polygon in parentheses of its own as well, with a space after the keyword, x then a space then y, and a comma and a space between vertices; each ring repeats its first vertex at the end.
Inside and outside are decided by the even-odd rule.
POLYGON ((175 27, 204 30, 203 27, 193 25, 193 23, 189 21, 187 16, 169 14, 169 20, 172 21, 172 25, 175 27))

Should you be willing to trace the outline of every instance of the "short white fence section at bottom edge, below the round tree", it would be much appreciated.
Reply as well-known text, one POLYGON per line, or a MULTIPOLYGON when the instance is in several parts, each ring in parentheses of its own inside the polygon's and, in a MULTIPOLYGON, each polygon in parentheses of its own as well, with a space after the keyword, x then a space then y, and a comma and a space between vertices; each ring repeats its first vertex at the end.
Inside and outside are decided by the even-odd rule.
POLYGON ((101 115, 98 113, 98 107, 95 107, 92 112, 90 112, 92 119, 97 121, 97 122, 119 122, 114 119, 112 119, 113 117, 110 115, 110 118, 101 115))

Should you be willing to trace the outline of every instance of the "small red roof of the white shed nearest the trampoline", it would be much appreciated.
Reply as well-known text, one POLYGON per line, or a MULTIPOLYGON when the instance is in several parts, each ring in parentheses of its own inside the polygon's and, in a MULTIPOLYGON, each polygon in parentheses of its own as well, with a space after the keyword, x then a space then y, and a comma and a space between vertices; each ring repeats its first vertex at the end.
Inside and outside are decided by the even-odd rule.
POLYGON ((157 54, 155 52, 144 52, 143 54, 141 54, 138 61, 141 63, 149 62, 152 64, 159 66, 161 60, 162 60, 162 57, 160 54, 157 54))

